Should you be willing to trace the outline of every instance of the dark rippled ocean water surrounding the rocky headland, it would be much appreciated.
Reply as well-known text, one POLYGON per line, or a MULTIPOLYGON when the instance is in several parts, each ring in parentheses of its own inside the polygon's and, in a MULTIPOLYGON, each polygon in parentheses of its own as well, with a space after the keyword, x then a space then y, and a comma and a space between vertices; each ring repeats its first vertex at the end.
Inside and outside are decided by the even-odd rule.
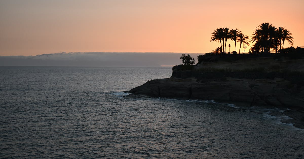
POLYGON ((0 158, 304 158, 284 111, 123 93, 169 67, 0 66, 0 158))

